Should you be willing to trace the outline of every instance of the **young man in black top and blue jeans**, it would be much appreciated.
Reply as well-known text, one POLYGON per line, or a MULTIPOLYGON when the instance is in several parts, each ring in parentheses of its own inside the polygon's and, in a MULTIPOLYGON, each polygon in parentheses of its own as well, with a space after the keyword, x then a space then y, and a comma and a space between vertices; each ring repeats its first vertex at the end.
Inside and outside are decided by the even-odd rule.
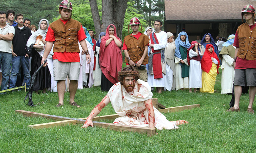
POLYGON ((30 84, 30 72, 29 72, 29 56, 26 53, 26 44, 31 36, 31 31, 28 27, 23 25, 23 15, 18 13, 15 15, 15 21, 17 25, 15 28, 15 35, 12 40, 13 52, 12 52, 12 71, 10 76, 10 87, 17 87, 17 76, 22 66, 24 82, 27 88, 30 84))

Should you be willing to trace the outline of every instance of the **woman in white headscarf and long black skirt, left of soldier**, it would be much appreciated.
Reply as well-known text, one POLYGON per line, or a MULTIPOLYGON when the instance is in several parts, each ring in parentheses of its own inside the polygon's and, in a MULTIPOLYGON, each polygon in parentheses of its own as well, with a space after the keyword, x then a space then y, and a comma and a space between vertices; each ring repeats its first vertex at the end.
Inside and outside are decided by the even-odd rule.
MULTIPOLYGON (((49 21, 47 19, 41 19, 38 24, 38 30, 35 31, 28 39, 27 42, 27 52, 30 53, 31 59, 31 71, 30 75, 32 76, 34 72, 41 65, 42 56, 45 50, 45 37, 49 27, 49 21)), ((47 57, 48 65, 46 67, 42 67, 38 72, 33 90, 43 90, 43 93, 46 93, 46 89, 50 88, 51 85, 53 87, 53 61, 52 61, 52 53, 50 53, 47 57)))

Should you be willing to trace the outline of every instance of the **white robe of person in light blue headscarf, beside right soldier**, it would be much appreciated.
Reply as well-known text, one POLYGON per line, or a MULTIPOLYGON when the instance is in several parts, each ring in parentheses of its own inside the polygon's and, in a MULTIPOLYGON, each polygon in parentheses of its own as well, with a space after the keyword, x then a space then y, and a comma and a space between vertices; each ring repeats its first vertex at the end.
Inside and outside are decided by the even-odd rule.
POLYGON ((232 93, 235 75, 233 61, 228 54, 222 54, 221 94, 232 93))

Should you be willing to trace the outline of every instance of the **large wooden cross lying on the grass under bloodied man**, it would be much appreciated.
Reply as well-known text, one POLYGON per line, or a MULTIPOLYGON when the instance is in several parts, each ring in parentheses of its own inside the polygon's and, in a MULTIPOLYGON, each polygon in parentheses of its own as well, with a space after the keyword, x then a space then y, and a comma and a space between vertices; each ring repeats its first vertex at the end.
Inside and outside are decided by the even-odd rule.
MULTIPOLYGON (((157 102, 157 99, 155 99, 155 98, 153 98, 152 103, 154 103, 153 105, 158 105, 159 107, 165 107, 165 106, 159 104, 157 102)), ((177 112, 177 111, 181 111, 181 110, 190 110, 195 107, 200 107, 200 105, 195 104, 195 105, 169 107, 169 108, 165 108, 165 109, 159 109, 159 111, 164 112, 164 113, 177 112)), ((87 118, 70 118, 70 117, 64 117, 64 116, 42 114, 42 113, 36 113, 36 112, 31 112, 31 111, 26 111, 26 110, 16 110, 16 112, 21 113, 24 116, 42 116, 42 117, 52 118, 54 120, 57 120, 57 122, 29 125, 29 127, 35 128, 35 129, 64 126, 67 124, 84 124, 85 120, 87 119, 87 118)), ((96 116, 93 119, 93 124, 96 127, 109 128, 109 129, 116 130, 116 131, 130 131, 130 132, 138 132, 138 133, 147 133, 148 136, 152 136, 156 133, 155 128, 135 127, 135 126, 128 126, 128 125, 113 124, 113 123, 97 122, 97 121, 105 120, 105 119, 115 120, 117 117, 120 117, 120 116, 117 114, 96 116)))

